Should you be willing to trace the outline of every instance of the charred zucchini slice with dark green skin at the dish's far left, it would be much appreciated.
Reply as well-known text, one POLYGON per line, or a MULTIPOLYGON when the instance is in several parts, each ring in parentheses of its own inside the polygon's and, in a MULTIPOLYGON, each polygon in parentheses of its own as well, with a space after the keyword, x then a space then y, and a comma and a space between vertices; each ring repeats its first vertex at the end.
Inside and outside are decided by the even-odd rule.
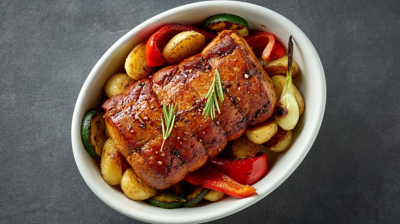
POLYGON ((104 143, 107 141, 106 121, 103 118, 104 110, 89 109, 83 120, 81 139, 84 148, 93 159, 100 159, 104 143))

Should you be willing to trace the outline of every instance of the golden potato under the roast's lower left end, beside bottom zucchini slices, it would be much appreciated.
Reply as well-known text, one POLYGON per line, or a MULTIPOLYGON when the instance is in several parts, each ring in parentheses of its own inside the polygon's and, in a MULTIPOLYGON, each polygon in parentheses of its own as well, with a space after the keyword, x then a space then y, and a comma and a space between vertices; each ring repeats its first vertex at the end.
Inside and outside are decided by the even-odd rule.
POLYGON ((121 178, 121 189, 132 200, 146 200, 157 194, 157 189, 144 183, 133 171, 127 169, 121 178))

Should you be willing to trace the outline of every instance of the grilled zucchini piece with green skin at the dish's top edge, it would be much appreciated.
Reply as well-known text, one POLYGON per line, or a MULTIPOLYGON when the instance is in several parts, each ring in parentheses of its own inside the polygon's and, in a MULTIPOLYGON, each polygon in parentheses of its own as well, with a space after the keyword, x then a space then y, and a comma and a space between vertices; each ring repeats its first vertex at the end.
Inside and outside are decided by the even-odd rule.
POLYGON ((232 14, 210 16, 203 21, 202 28, 212 31, 234 30, 243 37, 249 35, 249 24, 246 19, 232 14))

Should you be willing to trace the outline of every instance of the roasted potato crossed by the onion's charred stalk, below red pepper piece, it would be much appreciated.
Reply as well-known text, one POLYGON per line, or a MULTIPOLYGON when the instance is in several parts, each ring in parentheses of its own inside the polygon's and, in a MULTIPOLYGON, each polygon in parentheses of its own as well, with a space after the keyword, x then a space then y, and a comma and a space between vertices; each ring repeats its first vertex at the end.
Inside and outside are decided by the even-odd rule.
MULTIPOLYGON (((268 73, 270 77, 275 75, 286 76, 286 73, 288 71, 288 55, 273 60, 263 60, 262 58, 259 58, 258 60, 261 63, 263 69, 268 73)), ((298 66, 294 60, 292 68, 292 78, 296 78, 299 74, 299 71, 298 66)))

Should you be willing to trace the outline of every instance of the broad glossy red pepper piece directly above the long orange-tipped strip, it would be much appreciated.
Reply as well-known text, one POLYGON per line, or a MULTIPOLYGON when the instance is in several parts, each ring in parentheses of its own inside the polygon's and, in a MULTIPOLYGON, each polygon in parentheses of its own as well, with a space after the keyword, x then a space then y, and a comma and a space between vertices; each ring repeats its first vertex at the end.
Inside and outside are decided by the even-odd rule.
POLYGON ((268 169, 267 155, 263 152, 258 152, 255 157, 249 159, 214 156, 210 158, 208 164, 245 185, 252 185, 259 181, 268 169))

